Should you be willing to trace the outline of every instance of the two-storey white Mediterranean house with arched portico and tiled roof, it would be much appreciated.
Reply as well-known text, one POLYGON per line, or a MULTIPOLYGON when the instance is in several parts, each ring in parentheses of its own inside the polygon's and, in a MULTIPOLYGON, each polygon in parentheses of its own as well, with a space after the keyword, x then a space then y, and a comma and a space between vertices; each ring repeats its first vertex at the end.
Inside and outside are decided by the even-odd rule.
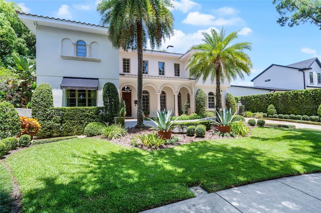
MULTIPOLYGON (((102 106, 103 86, 112 82, 126 102, 126 117, 136 117, 136 52, 114 49, 104 26, 17 13, 36 34, 37 83, 51 84, 54 106, 102 106)), ((192 113, 198 89, 207 94, 207 109, 215 110, 215 84, 189 78, 186 66, 192 53, 144 50, 144 110, 172 109, 178 115, 189 102, 192 113)), ((229 86, 221 83, 222 106, 229 86)))

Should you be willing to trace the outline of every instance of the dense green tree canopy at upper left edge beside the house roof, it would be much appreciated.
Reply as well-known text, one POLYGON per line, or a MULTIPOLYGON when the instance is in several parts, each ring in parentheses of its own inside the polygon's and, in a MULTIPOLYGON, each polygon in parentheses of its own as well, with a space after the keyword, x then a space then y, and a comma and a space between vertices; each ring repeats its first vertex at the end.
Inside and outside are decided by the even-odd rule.
POLYGON ((18 18, 21 8, 12 1, 0 0, 0 65, 14 66, 14 55, 36 57, 36 36, 18 18))

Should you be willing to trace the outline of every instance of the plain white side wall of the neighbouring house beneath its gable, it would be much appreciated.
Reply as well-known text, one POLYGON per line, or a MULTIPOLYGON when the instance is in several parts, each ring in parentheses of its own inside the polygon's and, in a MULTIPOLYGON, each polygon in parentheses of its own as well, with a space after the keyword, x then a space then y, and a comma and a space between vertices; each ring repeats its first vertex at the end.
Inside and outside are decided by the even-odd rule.
POLYGON ((303 89, 303 73, 297 68, 272 65, 253 80, 254 87, 303 89))

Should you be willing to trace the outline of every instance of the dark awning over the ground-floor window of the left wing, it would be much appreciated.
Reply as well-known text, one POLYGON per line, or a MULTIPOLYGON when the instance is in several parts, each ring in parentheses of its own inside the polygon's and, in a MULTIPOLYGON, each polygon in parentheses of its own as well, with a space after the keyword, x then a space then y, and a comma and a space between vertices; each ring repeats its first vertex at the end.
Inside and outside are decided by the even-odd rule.
POLYGON ((98 78, 64 77, 60 84, 60 88, 97 90, 98 78))

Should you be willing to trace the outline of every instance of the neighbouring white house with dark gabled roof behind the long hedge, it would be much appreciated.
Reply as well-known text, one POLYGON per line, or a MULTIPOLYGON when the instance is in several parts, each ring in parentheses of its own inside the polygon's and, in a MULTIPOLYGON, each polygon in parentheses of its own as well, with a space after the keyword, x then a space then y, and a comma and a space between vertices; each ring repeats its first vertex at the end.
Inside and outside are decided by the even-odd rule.
POLYGON ((314 57, 286 66, 271 64, 251 81, 254 87, 272 89, 321 88, 321 63, 314 57))

